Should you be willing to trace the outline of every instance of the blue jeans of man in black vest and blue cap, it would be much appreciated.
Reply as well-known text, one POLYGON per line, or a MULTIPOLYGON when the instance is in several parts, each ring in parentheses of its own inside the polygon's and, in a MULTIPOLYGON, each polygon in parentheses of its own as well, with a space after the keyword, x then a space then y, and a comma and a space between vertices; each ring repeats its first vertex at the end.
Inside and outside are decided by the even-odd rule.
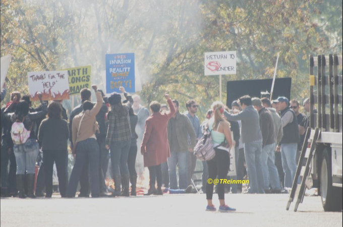
POLYGON ((284 187, 292 188, 293 180, 297 171, 296 154, 297 143, 281 144, 281 159, 284 173, 284 187))

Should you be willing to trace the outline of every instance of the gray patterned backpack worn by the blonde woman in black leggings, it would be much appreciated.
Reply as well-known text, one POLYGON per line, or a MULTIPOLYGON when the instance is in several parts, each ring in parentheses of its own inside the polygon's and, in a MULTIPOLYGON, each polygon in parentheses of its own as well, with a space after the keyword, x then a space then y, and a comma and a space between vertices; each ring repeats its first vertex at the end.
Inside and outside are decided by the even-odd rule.
POLYGON ((194 155, 202 161, 209 161, 213 159, 215 156, 211 131, 208 131, 207 126, 204 135, 201 137, 201 139, 198 141, 197 145, 194 148, 194 155))

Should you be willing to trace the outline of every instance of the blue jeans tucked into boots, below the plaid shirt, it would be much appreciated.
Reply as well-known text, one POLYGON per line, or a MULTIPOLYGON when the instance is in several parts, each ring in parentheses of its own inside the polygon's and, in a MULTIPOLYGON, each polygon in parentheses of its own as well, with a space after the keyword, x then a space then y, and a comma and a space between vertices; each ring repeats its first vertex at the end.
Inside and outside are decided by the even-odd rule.
POLYGON ((113 177, 129 175, 128 157, 130 151, 131 140, 125 142, 112 142, 110 146, 111 164, 113 177))

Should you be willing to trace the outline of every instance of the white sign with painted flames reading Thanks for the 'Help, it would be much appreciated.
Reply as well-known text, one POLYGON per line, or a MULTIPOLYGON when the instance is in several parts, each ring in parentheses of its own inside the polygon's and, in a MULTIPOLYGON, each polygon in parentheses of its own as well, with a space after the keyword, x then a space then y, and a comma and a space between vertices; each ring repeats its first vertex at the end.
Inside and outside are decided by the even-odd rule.
POLYGON ((29 72, 30 99, 37 101, 37 93, 43 95, 43 100, 69 99, 68 71, 29 72))

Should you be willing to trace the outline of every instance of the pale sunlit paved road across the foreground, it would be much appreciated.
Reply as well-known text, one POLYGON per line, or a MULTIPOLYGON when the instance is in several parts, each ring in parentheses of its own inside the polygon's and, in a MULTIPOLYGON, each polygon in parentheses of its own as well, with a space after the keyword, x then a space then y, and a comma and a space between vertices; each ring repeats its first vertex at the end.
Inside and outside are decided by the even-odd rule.
MULTIPOLYGON (((100 199, 1 199, 1 226, 342 226, 341 212, 324 212, 320 197, 286 211, 288 195, 225 195, 235 213, 206 212, 205 195, 100 199)), ((217 198, 217 195, 214 195, 217 198)), ((215 200, 215 205, 219 206, 215 200)))

